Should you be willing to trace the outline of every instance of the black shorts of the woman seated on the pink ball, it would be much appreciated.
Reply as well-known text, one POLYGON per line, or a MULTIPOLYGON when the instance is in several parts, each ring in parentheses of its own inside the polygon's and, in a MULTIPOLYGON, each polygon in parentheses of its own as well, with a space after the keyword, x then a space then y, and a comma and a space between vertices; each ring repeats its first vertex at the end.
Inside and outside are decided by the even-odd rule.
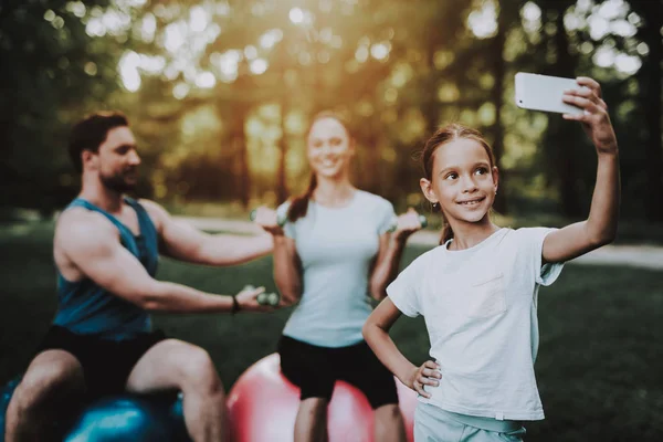
POLYGON ((336 380, 345 380, 366 394, 373 409, 398 403, 393 375, 366 341, 329 348, 282 336, 278 341, 281 371, 299 387, 299 398, 332 399, 336 380))

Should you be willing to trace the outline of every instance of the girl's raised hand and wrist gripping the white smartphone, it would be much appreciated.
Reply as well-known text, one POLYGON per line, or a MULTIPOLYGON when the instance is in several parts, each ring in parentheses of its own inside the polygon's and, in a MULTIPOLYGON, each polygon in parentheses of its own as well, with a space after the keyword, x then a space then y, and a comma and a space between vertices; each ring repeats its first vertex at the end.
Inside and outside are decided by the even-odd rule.
POLYGON ((601 85, 587 76, 579 76, 576 81, 580 87, 565 91, 562 99, 565 103, 582 108, 583 113, 564 114, 562 117, 582 123, 582 128, 599 154, 615 154, 617 137, 608 115, 608 105, 601 98, 601 85))

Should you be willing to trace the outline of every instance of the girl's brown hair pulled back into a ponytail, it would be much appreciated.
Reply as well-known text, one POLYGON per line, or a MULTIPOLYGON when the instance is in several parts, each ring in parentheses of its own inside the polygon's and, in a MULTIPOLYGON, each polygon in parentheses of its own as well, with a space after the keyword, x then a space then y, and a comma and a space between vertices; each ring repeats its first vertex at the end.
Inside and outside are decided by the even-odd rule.
MULTIPOLYGON (((472 129, 457 123, 452 123, 439 128, 423 146, 423 150, 421 151, 421 165, 423 168, 423 175, 428 180, 432 180, 433 178, 433 160, 438 147, 461 138, 473 139, 478 143, 486 150, 486 154, 488 154, 491 170, 493 169, 495 166, 495 155, 493 154, 493 148, 491 145, 488 145, 488 141, 485 140, 483 134, 476 129, 472 129)), ((433 210, 441 210, 440 206, 438 204, 435 207, 435 204, 433 204, 433 210)), ((451 229, 451 225, 446 221, 445 217, 443 217, 443 222, 444 224, 442 227, 440 244, 443 244, 453 238, 453 230, 451 229)))

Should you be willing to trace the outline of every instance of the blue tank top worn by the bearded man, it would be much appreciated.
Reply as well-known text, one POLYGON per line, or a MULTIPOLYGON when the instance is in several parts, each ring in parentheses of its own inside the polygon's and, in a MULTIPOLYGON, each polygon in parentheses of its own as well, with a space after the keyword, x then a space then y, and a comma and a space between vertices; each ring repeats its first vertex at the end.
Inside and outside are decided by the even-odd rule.
MULTIPOLYGON (((110 213, 83 199, 73 200, 66 209, 82 207, 102 213, 119 230, 122 245, 134 254, 154 277, 159 257, 155 224, 137 201, 125 198, 138 215, 140 233, 134 233, 110 213)), ((65 209, 65 210, 66 210, 65 209)), ((90 278, 77 282, 65 280, 57 272, 59 308, 54 325, 78 335, 95 335, 102 339, 130 339, 151 329, 149 314, 135 304, 115 296, 90 278)))

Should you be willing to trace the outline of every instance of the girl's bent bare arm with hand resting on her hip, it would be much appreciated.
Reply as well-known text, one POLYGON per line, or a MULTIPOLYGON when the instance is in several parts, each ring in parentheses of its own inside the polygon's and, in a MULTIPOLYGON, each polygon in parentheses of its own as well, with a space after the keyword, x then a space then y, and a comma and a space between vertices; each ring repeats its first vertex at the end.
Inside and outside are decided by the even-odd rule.
POLYGON ((438 365, 432 360, 428 360, 421 367, 417 367, 396 347, 389 336, 389 330, 400 315, 400 311, 391 299, 386 297, 370 314, 361 333, 385 367, 404 386, 430 398, 430 394, 423 390, 423 386, 438 386, 439 381, 436 379, 441 377, 436 370, 438 365))

